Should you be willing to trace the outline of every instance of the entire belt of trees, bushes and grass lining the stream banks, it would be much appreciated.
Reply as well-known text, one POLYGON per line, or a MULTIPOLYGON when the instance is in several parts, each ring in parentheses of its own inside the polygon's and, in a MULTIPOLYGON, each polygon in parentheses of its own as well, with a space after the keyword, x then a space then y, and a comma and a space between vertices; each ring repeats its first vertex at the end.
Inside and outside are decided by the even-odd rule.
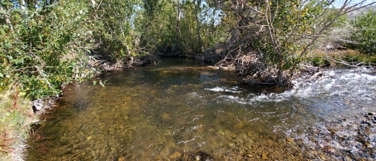
POLYGON ((38 121, 31 101, 103 70, 153 63, 154 55, 196 57, 278 87, 310 66, 375 65, 376 11, 347 17, 375 3, 1 0, 0 160, 22 159, 14 154, 38 121))

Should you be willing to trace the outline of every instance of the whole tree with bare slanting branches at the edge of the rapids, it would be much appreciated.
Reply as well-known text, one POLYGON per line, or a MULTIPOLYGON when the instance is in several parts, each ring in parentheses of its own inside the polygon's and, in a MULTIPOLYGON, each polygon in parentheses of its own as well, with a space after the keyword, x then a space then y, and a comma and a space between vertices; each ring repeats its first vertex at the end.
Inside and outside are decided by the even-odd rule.
POLYGON ((330 20, 323 16, 334 0, 213 0, 211 3, 224 9, 226 16, 233 16, 230 18, 230 24, 234 25, 230 41, 237 41, 233 44, 241 46, 237 54, 256 53, 259 62, 256 64, 261 67, 250 66, 257 68, 249 69, 250 79, 256 83, 285 86, 306 53, 340 16, 376 3, 355 1, 341 1, 330 20), (261 72, 267 74, 264 79, 260 79, 261 72))

